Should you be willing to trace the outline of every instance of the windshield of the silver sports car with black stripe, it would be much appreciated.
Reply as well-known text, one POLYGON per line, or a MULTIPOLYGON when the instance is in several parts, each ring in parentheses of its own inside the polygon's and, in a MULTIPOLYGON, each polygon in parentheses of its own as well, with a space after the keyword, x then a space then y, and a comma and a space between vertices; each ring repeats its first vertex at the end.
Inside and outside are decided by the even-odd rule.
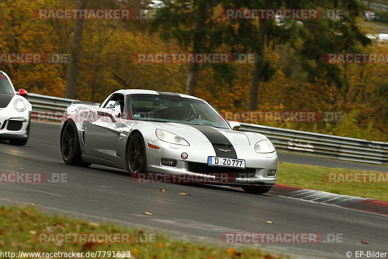
POLYGON ((128 98, 133 120, 179 122, 230 129, 225 119, 208 103, 178 95, 134 94, 128 98))

